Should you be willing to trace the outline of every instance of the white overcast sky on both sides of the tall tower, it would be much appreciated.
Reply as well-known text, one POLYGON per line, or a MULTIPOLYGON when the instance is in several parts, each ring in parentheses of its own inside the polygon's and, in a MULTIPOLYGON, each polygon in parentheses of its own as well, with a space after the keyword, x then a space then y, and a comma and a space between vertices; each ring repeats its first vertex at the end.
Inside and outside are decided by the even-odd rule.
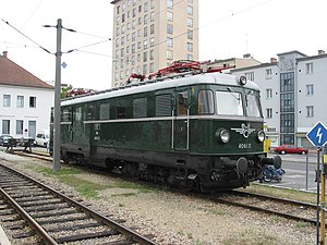
MULTIPOLYGON (((157 0, 159 1, 159 0, 157 0)), ((165 0, 161 0, 165 1, 165 0)), ((179 2, 181 0, 174 0, 179 2)), ((186 0, 184 0, 186 1, 186 0)), ((268 62, 277 53, 327 51, 326 0, 198 0, 199 60, 242 58, 268 62)), ((106 89, 111 86, 111 0, 0 0, 0 52, 43 81, 55 79, 56 25, 62 32, 62 83, 106 89), (13 27, 5 24, 9 22, 13 27), (33 41, 28 40, 26 35, 33 41), (77 50, 76 50, 77 49, 77 50)))

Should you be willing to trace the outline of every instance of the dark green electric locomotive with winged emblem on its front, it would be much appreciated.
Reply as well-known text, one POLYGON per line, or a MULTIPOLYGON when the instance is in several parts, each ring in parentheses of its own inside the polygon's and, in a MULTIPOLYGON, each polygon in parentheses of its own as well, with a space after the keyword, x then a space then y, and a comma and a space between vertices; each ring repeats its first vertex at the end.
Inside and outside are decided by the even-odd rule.
POLYGON ((202 192, 245 187, 267 158, 259 89, 192 72, 61 102, 61 158, 202 192))

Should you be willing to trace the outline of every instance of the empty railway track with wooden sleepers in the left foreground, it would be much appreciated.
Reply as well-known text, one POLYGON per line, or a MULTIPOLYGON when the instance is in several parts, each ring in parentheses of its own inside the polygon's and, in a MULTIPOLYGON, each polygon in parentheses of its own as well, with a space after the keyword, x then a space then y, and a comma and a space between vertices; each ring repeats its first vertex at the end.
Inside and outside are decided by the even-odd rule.
POLYGON ((156 244, 123 226, 121 221, 3 164, 0 164, 0 220, 17 240, 15 244, 156 244))

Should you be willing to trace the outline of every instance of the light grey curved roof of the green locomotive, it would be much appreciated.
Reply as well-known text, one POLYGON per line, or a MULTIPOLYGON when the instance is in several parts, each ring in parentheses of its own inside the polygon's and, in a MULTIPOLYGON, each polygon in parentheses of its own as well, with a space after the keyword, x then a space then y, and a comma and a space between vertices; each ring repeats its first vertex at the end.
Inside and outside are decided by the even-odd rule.
MULTIPOLYGON (((160 90, 167 88, 178 88, 178 87, 198 85, 198 84, 240 87, 238 77, 234 75, 223 74, 223 73, 204 73, 197 75, 186 75, 173 79, 168 78, 165 81, 146 81, 146 82, 141 82, 140 84, 128 85, 121 88, 113 88, 113 89, 98 91, 98 93, 88 94, 84 96, 76 96, 72 99, 66 99, 61 101, 61 106, 90 102, 90 101, 133 95, 138 93, 146 93, 146 91, 160 90)), ((243 87, 254 89, 254 90, 259 90, 258 86, 251 81, 247 81, 247 83, 243 87)))

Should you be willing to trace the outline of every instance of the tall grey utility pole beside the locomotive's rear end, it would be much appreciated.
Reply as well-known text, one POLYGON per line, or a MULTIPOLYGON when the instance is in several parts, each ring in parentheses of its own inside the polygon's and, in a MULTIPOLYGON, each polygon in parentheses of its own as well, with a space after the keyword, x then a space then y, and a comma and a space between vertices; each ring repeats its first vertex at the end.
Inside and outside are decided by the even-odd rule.
POLYGON ((55 171, 60 170, 60 91, 61 91, 61 19, 57 21, 57 51, 56 51, 56 81, 55 81, 55 115, 53 115, 53 164, 55 171))

